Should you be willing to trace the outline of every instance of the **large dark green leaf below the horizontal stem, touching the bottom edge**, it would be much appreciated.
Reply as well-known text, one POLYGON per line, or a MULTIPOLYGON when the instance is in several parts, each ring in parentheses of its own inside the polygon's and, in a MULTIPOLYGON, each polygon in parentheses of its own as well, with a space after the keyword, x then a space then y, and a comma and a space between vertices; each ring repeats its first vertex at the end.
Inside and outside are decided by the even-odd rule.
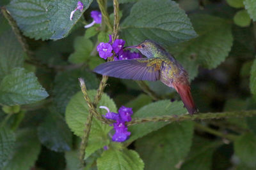
POLYGON ((193 137, 193 122, 173 122, 136 141, 145 169, 175 169, 186 157, 193 137))

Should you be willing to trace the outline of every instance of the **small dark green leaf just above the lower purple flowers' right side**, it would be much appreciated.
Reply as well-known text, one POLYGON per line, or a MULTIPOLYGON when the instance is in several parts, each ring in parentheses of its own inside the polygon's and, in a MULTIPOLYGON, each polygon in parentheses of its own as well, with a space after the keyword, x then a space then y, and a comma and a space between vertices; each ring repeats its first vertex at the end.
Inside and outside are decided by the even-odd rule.
POLYGON ((147 104, 152 103, 152 98, 145 95, 140 94, 140 96, 136 97, 136 99, 133 99, 129 103, 125 104, 126 107, 132 108, 132 111, 138 111, 142 106, 145 106, 147 104))

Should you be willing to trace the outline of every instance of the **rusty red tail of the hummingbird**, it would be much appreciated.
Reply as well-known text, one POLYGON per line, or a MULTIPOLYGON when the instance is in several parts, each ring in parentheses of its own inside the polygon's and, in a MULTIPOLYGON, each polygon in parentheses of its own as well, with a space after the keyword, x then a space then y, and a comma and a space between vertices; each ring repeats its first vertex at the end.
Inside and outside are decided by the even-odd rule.
POLYGON ((179 93, 180 98, 182 99, 184 106, 187 108, 189 114, 192 115, 193 113, 196 113, 197 109, 193 101, 193 97, 191 95, 189 85, 182 84, 182 83, 180 84, 173 83, 173 87, 179 93))

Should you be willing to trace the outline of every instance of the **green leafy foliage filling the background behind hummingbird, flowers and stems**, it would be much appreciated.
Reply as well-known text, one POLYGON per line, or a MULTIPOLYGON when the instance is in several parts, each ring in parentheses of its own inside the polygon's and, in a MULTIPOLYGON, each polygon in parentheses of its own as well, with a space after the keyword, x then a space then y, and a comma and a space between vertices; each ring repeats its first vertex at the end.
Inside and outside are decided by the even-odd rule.
POLYGON ((243 117, 256 112, 255 0, 119 0, 125 46, 157 41, 188 71, 200 113, 239 117, 156 122, 186 117, 174 90, 146 82, 152 99, 135 81, 109 78, 100 115, 99 106, 124 105, 150 121, 115 143, 113 128, 93 117, 81 151, 90 108, 77 78, 93 101, 102 77, 92 70, 105 62, 96 47, 109 41, 116 8, 82 2, 70 20, 77 0, 0 1, 0 169, 256 169, 256 116, 243 117), (108 20, 84 29, 99 9, 108 20))

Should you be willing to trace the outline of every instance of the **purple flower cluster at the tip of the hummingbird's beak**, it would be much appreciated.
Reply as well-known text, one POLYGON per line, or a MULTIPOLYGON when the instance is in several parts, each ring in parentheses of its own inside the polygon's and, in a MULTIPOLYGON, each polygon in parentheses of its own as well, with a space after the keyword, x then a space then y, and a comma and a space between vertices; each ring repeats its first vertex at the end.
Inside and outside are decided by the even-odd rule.
MULTIPOLYGON (((109 39, 111 39, 111 36, 109 36, 109 39)), ((112 50, 116 53, 116 56, 114 57, 115 60, 136 59, 142 57, 140 53, 130 52, 129 50, 124 51, 124 45, 124 39, 116 39, 112 45, 111 40, 109 40, 109 43, 100 43, 97 46, 97 51, 103 59, 111 57, 113 55, 112 50), (106 46, 108 46, 108 48, 106 48, 106 46)))

